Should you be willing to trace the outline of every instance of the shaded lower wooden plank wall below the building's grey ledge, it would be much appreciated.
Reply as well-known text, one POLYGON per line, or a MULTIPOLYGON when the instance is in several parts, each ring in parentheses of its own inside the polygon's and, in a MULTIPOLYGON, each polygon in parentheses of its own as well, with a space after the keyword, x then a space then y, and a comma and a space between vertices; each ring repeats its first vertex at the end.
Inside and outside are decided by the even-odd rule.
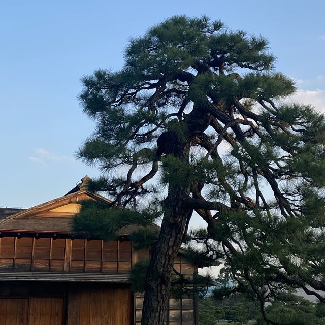
POLYGON ((1 325, 131 325, 125 285, 0 283, 1 325))

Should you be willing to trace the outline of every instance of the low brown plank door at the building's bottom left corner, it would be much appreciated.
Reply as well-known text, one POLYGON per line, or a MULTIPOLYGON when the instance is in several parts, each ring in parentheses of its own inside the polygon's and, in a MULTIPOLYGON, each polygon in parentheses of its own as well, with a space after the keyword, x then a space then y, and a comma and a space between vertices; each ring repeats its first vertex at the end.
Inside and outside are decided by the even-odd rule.
POLYGON ((0 299, 1 325, 61 325, 63 299, 0 299))

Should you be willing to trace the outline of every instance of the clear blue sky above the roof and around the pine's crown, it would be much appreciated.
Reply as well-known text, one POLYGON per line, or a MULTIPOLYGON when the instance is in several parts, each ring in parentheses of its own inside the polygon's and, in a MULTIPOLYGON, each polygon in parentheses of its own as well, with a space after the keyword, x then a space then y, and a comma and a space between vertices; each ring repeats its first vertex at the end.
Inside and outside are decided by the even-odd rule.
POLYGON ((79 79, 119 69, 128 37, 172 15, 206 14, 267 37, 276 70, 297 80, 294 99, 325 112, 324 12, 321 0, 2 2, 0 206, 30 207, 98 175, 73 158, 93 129, 79 79))

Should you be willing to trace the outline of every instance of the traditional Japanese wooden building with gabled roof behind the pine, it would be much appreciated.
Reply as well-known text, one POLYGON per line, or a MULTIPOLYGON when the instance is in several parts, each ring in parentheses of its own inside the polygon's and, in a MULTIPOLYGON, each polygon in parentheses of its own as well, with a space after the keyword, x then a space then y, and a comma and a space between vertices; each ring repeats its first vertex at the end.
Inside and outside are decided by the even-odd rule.
MULTIPOLYGON (((74 236, 80 202, 108 202, 87 190, 87 180, 30 209, 0 208, 1 325, 140 324, 143 298, 131 293, 128 273, 149 251, 134 249, 132 227, 114 241, 74 236)), ((198 271, 182 250, 174 268, 187 276, 198 271)), ((196 299, 170 299, 167 325, 198 323, 196 299)))

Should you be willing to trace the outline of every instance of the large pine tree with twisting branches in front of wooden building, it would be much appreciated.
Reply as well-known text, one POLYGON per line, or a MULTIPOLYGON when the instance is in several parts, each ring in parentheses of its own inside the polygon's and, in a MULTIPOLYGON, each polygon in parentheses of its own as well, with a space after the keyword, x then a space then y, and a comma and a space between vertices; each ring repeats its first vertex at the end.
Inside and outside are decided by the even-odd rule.
POLYGON ((202 244, 193 258, 224 261, 266 320, 282 284, 324 301, 324 116, 287 101, 295 82, 274 62, 261 36, 175 16, 131 39, 120 71, 83 77, 97 125, 78 156, 101 168, 91 188, 119 209, 84 207, 74 227, 101 238, 147 229, 135 234, 151 247, 142 325, 163 324, 183 242, 202 244), (206 229, 188 230, 194 212, 206 229), (156 235, 146 226, 159 217, 156 235))

